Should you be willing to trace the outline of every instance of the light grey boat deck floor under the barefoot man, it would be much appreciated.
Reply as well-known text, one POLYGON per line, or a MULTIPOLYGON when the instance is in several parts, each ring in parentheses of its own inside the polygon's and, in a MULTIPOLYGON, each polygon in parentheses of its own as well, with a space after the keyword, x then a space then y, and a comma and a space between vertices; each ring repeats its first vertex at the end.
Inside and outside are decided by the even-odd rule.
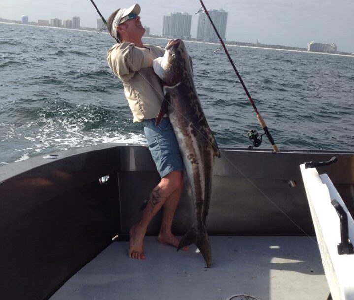
MULTIPOLYGON (((314 238, 313 238, 314 239, 314 238)), ((329 288, 317 244, 309 237, 210 237, 209 269, 196 247, 176 252, 145 240, 145 261, 114 242, 70 278, 51 300, 325 300, 329 288)))

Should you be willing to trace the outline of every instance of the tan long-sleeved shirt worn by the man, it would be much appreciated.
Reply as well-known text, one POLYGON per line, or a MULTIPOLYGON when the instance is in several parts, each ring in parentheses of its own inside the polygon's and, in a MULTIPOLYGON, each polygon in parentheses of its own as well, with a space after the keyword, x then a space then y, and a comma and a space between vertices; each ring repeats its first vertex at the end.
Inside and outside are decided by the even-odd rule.
POLYGON ((163 90, 152 61, 164 52, 158 46, 139 48, 128 42, 115 44, 108 50, 108 65, 123 82, 134 122, 156 118, 159 113, 163 90))

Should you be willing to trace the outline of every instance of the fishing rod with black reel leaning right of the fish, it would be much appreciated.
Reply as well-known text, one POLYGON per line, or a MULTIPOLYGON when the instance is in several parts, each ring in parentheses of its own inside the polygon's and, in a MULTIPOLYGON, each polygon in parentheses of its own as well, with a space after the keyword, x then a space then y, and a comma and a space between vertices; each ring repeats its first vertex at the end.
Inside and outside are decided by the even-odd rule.
MULTIPOLYGON (((216 29, 216 27, 215 27, 215 25, 214 25, 214 22, 213 22, 213 20, 211 19, 210 15, 209 15, 209 12, 208 12, 208 10, 206 9, 206 7, 205 7, 205 5, 204 5, 204 3, 203 3, 203 0, 200 0, 200 3, 201 3, 201 5, 202 5, 202 7, 203 7, 203 9, 204 9, 204 12, 205 12, 206 15, 208 16, 208 18, 209 18, 209 20, 210 20, 210 23, 211 23, 211 25, 213 26, 213 28, 214 28, 214 30, 215 30, 215 33, 217 34, 217 36, 218 36, 218 38, 219 38, 219 40, 220 40, 220 43, 221 43, 221 45, 223 46, 224 51, 225 51, 225 53, 226 53, 226 55, 227 55, 227 57, 228 57, 228 59, 229 59, 231 65, 232 65, 233 69, 234 69, 235 72, 236 72, 236 75, 237 75, 238 79, 240 80, 240 82, 241 82, 241 84, 242 84, 243 89, 244 89, 245 92, 246 92, 246 95, 247 95, 247 97, 248 97, 248 100, 251 102, 252 107, 253 107, 254 111, 256 112, 257 119, 258 119, 258 122, 259 122, 260 126, 262 126, 262 128, 263 128, 263 130, 264 130, 264 133, 265 133, 265 135, 267 136, 267 138, 268 138, 270 144, 272 144, 272 148, 273 148, 274 152, 279 153, 279 152, 280 152, 280 151, 279 151, 279 148, 278 148, 277 145, 275 145, 274 139, 273 139, 272 135, 270 134, 270 132, 269 132, 269 130, 268 130, 268 127, 267 127, 267 125, 265 124, 265 121, 263 120, 263 118, 261 117, 260 113, 258 112, 257 107, 256 107, 256 104, 253 102, 253 99, 252 99, 250 93, 248 92, 247 87, 246 87, 245 83, 243 82, 243 80, 242 80, 242 78, 241 78, 241 75, 238 73, 234 62, 233 62, 233 60, 232 60, 230 54, 229 54, 228 51, 227 51, 227 48, 226 48, 226 46, 225 46, 225 43, 224 43, 223 39, 220 37, 220 34, 219 34, 218 30, 216 29)), ((200 10, 200 11, 201 11, 201 10, 200 10)), ((254 145, 255 145, 256 147, 258 147, 258 146, 260 145, 260 143, 261 143, 261 139, 260 139, 260 141, 259 141, 259 139, 257 140, 257 137, 258 137, 258 135, 255 133, 255 131, 252 131, 252 130, 251 130, 251 131, 249 132, 249 138, 250 138, 250 140, 252 140, 252 139, 254 140, 254 145)))

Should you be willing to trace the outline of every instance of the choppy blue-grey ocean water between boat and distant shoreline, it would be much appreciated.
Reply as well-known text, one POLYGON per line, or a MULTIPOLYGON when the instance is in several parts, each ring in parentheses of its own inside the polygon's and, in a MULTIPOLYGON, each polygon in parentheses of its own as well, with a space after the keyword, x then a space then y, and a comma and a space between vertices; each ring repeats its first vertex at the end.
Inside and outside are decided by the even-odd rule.
MULTIPOLYGON (((106 62, 113 43, 108 34, 0 24, 0 166, 71 147, 145 143, 106 62)), ((262 129, 225 53, 186 46, 219 146, 249 146, 248 130, 262 129)), ((354 150, 353 57, 228 50, 280 150, 354 150)), ((261 148, 270 148, 266 138, 261 148)))

